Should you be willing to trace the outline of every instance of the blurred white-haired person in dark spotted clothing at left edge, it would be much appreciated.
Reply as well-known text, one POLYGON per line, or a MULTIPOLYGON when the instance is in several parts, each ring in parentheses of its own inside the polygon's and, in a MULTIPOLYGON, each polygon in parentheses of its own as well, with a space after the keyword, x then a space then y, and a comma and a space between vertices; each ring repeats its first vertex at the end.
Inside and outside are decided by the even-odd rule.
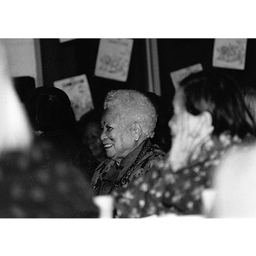
POLYGON ((0 218, 97 218, 90 183, 49 143, 36 143, 0 43, 0 218))

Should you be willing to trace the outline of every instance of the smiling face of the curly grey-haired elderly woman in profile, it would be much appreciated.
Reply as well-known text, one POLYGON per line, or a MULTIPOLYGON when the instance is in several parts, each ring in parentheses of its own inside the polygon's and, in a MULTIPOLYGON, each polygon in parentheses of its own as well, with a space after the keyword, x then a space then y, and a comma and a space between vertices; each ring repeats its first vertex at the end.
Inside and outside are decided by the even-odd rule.
POLYGON ((102 115, 101 141, 108 158, 120 161, 137 148, 132 131, 132 121, 127 115, 108 108, 102 115))

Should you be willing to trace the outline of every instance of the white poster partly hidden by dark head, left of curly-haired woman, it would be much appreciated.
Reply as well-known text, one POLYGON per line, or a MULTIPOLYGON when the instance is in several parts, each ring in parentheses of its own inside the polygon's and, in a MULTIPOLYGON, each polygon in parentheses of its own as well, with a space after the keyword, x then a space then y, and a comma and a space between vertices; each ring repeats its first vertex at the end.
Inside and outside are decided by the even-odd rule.
POLYGON ((85 74, 55 81, 54 86, 67 93, 76 120, 79 120, 84 113, 94 108, 90 87, 85 74))

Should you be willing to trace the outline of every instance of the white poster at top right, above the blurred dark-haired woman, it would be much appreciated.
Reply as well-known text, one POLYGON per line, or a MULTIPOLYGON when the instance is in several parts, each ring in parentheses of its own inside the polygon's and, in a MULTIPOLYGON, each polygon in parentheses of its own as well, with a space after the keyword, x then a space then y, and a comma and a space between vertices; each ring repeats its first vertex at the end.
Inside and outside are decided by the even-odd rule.
POLYGON ((212 66, 244 69, 247 39, 215 39, 212 66))

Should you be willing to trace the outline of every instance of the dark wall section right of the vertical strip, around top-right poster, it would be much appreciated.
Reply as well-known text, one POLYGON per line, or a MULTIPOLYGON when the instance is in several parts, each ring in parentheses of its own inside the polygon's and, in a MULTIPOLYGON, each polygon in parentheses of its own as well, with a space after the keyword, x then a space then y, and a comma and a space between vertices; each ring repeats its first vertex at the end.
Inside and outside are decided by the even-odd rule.
MULTIPOLYGON (((201 63, 203 69, 212 69, 214 39, 158 39, 161 94, 169 100, 174 94, 170 73, 183 67, 201 63)), ((216 68, 218 69, 218 68, 216 68)), ((236 79, 241 86, 256 87, 256 40, 247 39, 244 70, 219 68, 236 79)))

